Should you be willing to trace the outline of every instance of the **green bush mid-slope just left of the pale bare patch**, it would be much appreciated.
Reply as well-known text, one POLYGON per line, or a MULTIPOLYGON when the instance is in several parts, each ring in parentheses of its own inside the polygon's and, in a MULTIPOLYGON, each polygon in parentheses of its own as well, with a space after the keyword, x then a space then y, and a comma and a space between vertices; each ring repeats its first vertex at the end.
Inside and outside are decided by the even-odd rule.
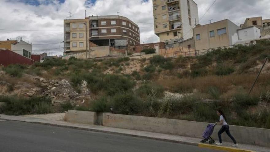
POLYGON ((163 86, 158 85, 158 84, 148 83, 148 84, 141 85, 136 90, 136 93, 140 97, 144 97, 144 98, 147 96, 163 97, 164 96, 164 88, 163 88, 163 86))

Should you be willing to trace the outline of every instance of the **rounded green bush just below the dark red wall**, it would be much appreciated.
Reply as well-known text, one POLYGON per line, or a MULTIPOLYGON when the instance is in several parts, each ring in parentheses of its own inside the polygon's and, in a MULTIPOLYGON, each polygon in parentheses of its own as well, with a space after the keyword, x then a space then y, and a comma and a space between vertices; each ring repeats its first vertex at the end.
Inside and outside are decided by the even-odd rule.
POLYGON ((13 77, 21 77, 25 70, 25 66, 21 64, 10 64, 3 68, 3 70, 13 77))

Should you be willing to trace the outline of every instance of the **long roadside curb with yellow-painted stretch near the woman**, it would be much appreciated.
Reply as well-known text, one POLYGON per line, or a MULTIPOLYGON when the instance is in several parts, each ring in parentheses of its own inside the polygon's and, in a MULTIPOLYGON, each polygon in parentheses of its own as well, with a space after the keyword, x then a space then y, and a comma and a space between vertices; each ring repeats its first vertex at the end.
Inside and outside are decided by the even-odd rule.
POLYGON ((43 124, 43 125, 48 125, 48 126, 65 127, 65 128, 79 129, 79 130, 85 130, 85 131, 94 131, 94 132, 102 132, 102 133, 110 133, 110 134, 120 134, 120 135, 131 136, 131 137, 139 137, 139 138, 153 139, 153 140, 159 140, 159 141, 165 141, 165 142, 180 143, 180 144, 191 145, 191 146, 198 146, 201 148, 209 148, 209 149, 214 149, 214 150, 225 150, 228 152, 254 152, 252 150, 242 150, 242 149, 237 149, 237 148, 215 146, 215 145, 195 143, 195 142, 176 141, 176 140, 172 140, 172 139, 155 138, 155 137, 141 136, 141 135, 135 135, 135 134, 126 134, 126 133, 120 133, 120 132, 114 132, 114 131, 104 131, 104 130, 93 129, 93 128, 73 127, 73 126, 59 125, 59 124, 54 124, 54 123, 29 122, 29 121, 23 121, 23 120, 10 120, 10 119, 4 119, 1 117, 0 117, 0 120, 43 124))

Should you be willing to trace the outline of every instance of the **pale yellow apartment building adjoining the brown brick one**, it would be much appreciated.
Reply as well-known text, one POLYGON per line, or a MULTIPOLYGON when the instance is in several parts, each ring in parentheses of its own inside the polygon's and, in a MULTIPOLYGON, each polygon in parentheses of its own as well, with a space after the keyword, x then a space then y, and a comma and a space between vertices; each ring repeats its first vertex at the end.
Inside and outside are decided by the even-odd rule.
POLYGON ((89 19, 64 20, 64 54, 87 50, 89 19))

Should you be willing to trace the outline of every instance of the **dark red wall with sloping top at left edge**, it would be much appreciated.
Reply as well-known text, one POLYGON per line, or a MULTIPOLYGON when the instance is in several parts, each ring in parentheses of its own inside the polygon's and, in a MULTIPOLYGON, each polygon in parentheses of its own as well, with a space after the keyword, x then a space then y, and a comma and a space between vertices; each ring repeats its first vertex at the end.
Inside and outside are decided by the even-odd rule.
POLYGON ((7 66, 9 64, 33 64, 34 60, 24 57, 10 50, 0 50, 0 65, 7 66))

